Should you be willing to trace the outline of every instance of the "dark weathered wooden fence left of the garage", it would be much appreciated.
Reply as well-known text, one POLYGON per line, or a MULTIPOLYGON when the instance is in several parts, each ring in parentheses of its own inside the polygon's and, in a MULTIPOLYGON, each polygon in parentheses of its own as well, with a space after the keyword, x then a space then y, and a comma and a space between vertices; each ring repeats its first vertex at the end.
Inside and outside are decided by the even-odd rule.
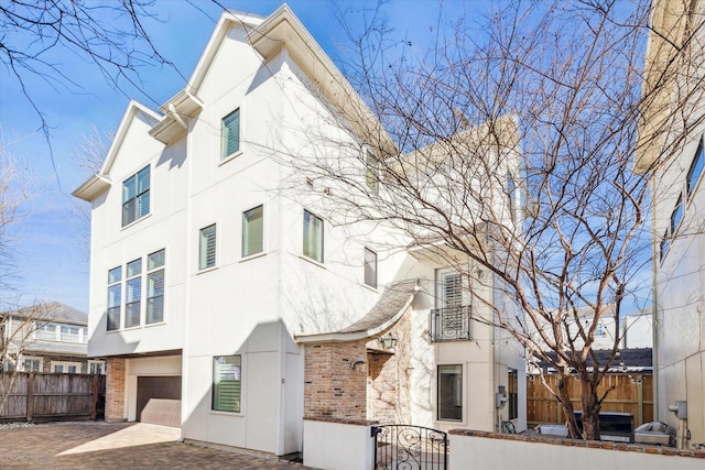
MULTIPOLYGON (((97 419, 105 413, 105 375, 15 372, 0 420, 97 419)), ((8 390, 11 374, 0 374, 8 390)))

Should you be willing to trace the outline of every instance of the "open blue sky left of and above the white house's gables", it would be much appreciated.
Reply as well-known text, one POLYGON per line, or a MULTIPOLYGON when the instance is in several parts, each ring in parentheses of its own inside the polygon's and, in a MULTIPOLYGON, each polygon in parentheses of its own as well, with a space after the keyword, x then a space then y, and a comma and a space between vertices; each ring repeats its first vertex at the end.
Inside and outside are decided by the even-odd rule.
MULTIPOLYGON (((181 74, 191 76, 203 52, 220 8, 207 0, 196 0, 202 11, 182 0, 156 0, 155 13, 161 21, 148 21, 145 26, 158 51, 175 64, 181 74)), ((227 1, 226 8, 267 15, 280 1, 227 1)), ((360 24, 362 15, 375 1, 341 1, 346 21, 360 24)), ((453 20, 466 8, 478 2, 436 0, 391 0, 383 13, 395 33, 423 40, 430 28, 436 28, 438 14, 453 20)), ((291 0, 289 6, 310 30, 322 47, 334 58, 340 57, 338 46, 347 39, 335 15, 332 2, 291 0)), ((77 83, 70 90, 52 87, 43 80, 29 78, 30 92, 51 128, 53 159, 40 119, 24 99, 4 68, 0 69, 0 144, 26 171, 32 182, 32 198, 22 205, 21 221, 8 232, 17 264, 15 291, 0 293, 0 308, 30 305, 35 300, 57 300, 74 308, 88 310, 88 260, 78 234, 87 221, 75 210, 70 196, 88 176, 70 155, 75 154, 84 135, 115 131, 130 98, 156 109, 185 85, 173 69, 153 65, 140 72, 145 95, 137 89, 126 96, 112 89, 97 70, 79 56, 54 51, 47 57, 77 83)), ((87 204, 87 203, 85 203, 87 204)))

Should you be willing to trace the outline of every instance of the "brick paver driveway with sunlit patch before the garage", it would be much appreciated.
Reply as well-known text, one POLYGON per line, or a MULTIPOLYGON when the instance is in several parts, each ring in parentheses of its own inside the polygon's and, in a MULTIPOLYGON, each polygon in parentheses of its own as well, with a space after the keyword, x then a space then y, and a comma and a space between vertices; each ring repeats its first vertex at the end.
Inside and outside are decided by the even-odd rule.
POLYGON ((297 463, 175 441, 178 429, 134 423, 52 423, 0 429, 0 469, 282 469, 297 463))

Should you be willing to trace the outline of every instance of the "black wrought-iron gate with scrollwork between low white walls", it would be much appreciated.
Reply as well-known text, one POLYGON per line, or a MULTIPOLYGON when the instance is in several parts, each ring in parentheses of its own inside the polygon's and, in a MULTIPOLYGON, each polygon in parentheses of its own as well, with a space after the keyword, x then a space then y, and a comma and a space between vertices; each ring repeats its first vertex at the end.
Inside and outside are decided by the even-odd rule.
POLYGON ((421 426, 372 426, 376 470, 447 470, 448 435, 421 426))

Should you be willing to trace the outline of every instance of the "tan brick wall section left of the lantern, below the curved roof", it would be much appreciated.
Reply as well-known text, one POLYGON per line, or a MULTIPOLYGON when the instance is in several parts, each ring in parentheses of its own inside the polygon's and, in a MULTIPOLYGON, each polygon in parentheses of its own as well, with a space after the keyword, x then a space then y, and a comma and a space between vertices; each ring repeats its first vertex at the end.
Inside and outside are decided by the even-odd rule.
POLYGON ((308 343, 304 348, 304 417, 365 419, 365 341, 308 343), (356 361, 365 361, 352 369, 356 361))

